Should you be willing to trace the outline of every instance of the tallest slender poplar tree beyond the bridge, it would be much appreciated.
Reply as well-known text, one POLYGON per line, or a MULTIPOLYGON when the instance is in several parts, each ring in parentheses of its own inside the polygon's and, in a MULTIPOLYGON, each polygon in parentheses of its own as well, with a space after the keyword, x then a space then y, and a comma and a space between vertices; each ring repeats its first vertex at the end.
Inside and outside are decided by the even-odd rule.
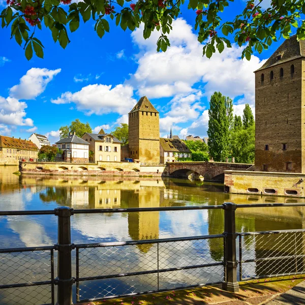
POLYGON ((233 103, 229 97, 215 92, 208 110, 208 148, 215 161, 225 161, 230 151, 230 132, 233 127, 233 103))

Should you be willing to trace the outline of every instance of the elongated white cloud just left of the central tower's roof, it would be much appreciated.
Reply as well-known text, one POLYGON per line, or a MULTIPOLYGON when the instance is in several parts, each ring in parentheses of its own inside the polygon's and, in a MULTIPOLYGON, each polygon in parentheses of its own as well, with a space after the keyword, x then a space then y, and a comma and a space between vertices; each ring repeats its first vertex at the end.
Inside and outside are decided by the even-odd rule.
POLYGON ((132 98, 133 87, 130 85, 94 84, 82 87, 78 92, 65 92, 56 100, 51 100, 54 104, 75 103, 78 110, 86 114, 105 114, 115 112, 119 114, 127 113, 136 100, 132 98))

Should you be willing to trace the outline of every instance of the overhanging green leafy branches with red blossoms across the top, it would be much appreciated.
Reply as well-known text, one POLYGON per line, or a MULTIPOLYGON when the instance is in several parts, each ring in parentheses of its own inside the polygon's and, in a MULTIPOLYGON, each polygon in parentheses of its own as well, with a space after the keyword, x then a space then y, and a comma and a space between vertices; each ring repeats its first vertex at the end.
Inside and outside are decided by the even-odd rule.
MULTIPOLYGON (((2 11, 2 27, 11 27, 11 38, 23 46, 29 60, 33 50, 43 58, 43 44, 36 37, 36 29, 46 27, 56 43, 66 48, 70 43, 69 32, 79 28, 80 20, 95 22, 94 30, 102 38, 110 31, 110 24, 115 24, 126 31, 134 31, 141 23, 143 37, 147 39, 151 32, 159 31, 157 50, 166 51, 170 46, 168 34, 172 21, 181 13, 184 0, 151 0, 131 3, 130 0, 84 0, 72 3, 71 0, 7 0, 8 6, 2 11), (109 15, 110 19, 107 18, 109 15)), ((262 0, 248 0, 243 10, 236 12, 230 20, 222 20, 223 12, 228 7, 236 9, 234 0, 189 0, 188 9, 194 12, 195 31, 198 41, 205 43, 203 54, 208 58, 225 45, 231 47, 228 37, 232 37, 238 46, 247 44, 242 57, 250 59, 254 51, 261 53, 268 49, 279 37, 289 38, 291 28, 295 27, 298 39, 305 38, 305 13, 303 0, 272 0, 266 10, 260 6, 262 0)))

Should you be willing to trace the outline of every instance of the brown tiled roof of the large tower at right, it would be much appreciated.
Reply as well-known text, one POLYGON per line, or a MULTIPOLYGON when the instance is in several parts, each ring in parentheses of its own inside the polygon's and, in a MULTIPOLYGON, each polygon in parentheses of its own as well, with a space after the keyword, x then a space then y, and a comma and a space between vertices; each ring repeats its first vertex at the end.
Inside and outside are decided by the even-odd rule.
POLYGON ((289 39, 286 39, 267 59, 265 64, 255 72, 301 57, 305 57, 305 40, 297 41, 296 35, 293 35, 289 39), (281 59, 277 59, 279 55, 281 55, 281 59))

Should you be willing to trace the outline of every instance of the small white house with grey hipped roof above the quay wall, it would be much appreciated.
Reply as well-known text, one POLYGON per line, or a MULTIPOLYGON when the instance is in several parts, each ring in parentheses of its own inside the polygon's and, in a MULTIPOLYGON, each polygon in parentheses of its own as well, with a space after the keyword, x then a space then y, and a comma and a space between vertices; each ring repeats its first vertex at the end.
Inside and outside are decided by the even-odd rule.
POLYGON ((89 143, 76 136, 75 132, 70 133, 67 138, 57 141, 56 145, 64 151, 60 157, 65 161, 76 163, 89 161, 89 143))

